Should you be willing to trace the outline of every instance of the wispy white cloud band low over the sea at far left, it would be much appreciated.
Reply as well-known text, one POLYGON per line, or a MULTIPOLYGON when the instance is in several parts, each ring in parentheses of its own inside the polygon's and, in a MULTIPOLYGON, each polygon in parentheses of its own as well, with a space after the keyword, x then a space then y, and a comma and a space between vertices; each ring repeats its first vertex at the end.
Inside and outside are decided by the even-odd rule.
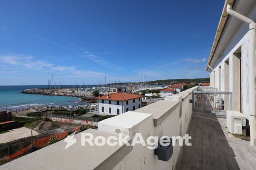
POLYGON ((68 73, 67 76, 74 77, 96 77, 103 76, 103 73, 94 71, 78 70, 74 66, 58 66, 46 61, 36 60, 33 56, 24 56, 16 54, 0 55, 0 63, 9 66, 15 66, 15 69, 26 69, 27 71, 40 72, 62 72, 68 73))

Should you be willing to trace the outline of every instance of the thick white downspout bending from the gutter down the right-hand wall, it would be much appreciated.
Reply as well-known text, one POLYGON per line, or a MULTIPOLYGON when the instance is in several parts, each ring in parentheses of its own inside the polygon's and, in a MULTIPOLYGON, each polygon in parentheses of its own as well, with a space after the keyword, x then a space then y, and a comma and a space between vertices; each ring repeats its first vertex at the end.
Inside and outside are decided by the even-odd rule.
POLYGON ((239 20, 249 24, 249 60, 248 60, 248 70, 249 70, 249 112, 250 112, 250 136, 251 136, 251 146, 256 146, 256 102, 255 102, 255 22, 242 14, 237 13, 232 10, 232 6, 227 4, 226 12, 238 18, 239 20))

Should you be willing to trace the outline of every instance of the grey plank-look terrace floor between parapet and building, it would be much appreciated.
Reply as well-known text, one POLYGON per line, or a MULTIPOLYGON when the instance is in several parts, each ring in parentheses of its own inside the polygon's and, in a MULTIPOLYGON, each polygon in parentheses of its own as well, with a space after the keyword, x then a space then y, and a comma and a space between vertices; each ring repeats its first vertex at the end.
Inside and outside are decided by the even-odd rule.
POLYGON ((179 170, 256 169, 256 147, 228 134, 225 118, 194 111, 188 133, 192 146, 184 147, 179 170))

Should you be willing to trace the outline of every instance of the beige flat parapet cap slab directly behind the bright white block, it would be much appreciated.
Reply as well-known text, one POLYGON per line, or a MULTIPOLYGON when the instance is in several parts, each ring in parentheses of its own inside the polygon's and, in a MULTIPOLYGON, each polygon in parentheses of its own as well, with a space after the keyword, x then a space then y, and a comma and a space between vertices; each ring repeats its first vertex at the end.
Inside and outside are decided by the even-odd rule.
POLYGON ((145 107, 135 110, 139 113, 149 113, 153 115, 154 126, 160 125, 174 110, 181 104, 177 100, 159 100, 145 107))

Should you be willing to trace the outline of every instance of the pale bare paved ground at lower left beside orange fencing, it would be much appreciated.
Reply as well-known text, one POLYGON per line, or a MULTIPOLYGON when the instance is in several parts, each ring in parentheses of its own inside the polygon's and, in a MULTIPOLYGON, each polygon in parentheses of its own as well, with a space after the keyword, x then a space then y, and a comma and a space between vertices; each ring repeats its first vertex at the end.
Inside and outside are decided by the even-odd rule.
MULTIPOLYGON (((32 130, 33 136, 38 135, 39 133, 32 130)), ((27 127, 21 127, 13 129, 9 132, 0 134, 0 143, 6 143, 10 141, 14 141, 17 139, 25 138, 31 136, 31 129, 27 127)))

